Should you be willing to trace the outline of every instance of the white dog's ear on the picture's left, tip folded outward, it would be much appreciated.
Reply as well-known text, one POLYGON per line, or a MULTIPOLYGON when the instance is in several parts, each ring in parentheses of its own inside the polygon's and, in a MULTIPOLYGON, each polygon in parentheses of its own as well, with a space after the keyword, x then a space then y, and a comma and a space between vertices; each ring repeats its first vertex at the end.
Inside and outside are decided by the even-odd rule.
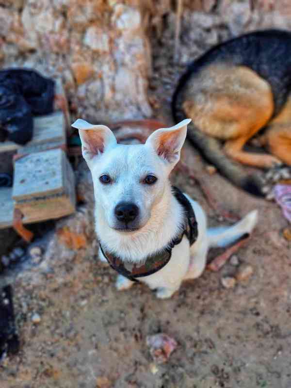
POLYGON ((113 132, 105 125, 89 124, 79 118, 72 124, 72 127, 79 129, 82 155, 88 164, 94 157, 117 144, 113 132))

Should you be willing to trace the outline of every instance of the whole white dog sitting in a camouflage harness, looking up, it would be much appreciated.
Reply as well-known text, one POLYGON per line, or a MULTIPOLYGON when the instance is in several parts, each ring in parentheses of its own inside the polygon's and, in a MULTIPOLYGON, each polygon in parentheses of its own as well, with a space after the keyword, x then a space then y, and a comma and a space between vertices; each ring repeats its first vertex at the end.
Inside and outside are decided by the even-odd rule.
POLYGON ((211 246, 225 246, 251 233, 257 210, 231 227, 207 230, 197 202, 173 188, 169 174, 186 138, 183 120, 154 131, 143 145, 117 144, 104 125, 78 119, 82 154, 93 178, 100 258, 119 272, 118 290, 146 283, 169 298, 184 279, 202 274, 211 246), (196 224, 196 221, 197 224, 196 224))

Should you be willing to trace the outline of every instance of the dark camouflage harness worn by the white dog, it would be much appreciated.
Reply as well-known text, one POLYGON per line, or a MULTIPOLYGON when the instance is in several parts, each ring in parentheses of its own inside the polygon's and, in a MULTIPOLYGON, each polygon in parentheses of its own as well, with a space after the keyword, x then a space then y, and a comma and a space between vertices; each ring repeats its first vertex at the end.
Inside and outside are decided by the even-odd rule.
POLYGON ((164 267, 171 259, 172 249, 182 241, 183 236, 187 236, 190 245, 192 245, 198 236, 197 222, 191 203, 186 196, 177 188, 172 187, 173 194, 185 210, 184 229, 162 249, 162 251, 147 256, 146 259, 139 262, 124 261, 118 256, 104 251, 101 244, 100 248, 103 256, 107 259, 110 266, 119 274, 127 277, 131 281, 138 281, 138 277, 154 274, 164 267))

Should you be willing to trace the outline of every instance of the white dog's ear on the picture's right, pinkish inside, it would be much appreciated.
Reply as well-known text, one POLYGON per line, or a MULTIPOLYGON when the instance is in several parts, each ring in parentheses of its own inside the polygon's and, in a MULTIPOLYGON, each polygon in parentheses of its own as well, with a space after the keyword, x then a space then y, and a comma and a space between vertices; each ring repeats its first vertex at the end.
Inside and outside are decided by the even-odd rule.
POLYGON ((187 134, 187 125, 190 122, 191 119, 187 118, 174 127, 155 130, 146 140, 146 145, 153 147, 164 161, 176 164, 180 159, 180 151, 187 134))

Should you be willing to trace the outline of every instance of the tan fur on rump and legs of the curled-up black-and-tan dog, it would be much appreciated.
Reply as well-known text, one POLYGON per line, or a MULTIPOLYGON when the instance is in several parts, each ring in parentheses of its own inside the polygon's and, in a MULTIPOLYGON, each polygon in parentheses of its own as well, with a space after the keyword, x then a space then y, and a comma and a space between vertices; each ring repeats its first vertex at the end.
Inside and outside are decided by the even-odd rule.
POLYGON ((283 161, 291 165, 291 102, 273 119, 262 138, 273 155, 242 150, 274 112, 271 86, 243 66, 212 65, 193 77, 184 90, 183 110, 195 126, 211 137, 224 140, 232 159, 257 167, 283 161))

